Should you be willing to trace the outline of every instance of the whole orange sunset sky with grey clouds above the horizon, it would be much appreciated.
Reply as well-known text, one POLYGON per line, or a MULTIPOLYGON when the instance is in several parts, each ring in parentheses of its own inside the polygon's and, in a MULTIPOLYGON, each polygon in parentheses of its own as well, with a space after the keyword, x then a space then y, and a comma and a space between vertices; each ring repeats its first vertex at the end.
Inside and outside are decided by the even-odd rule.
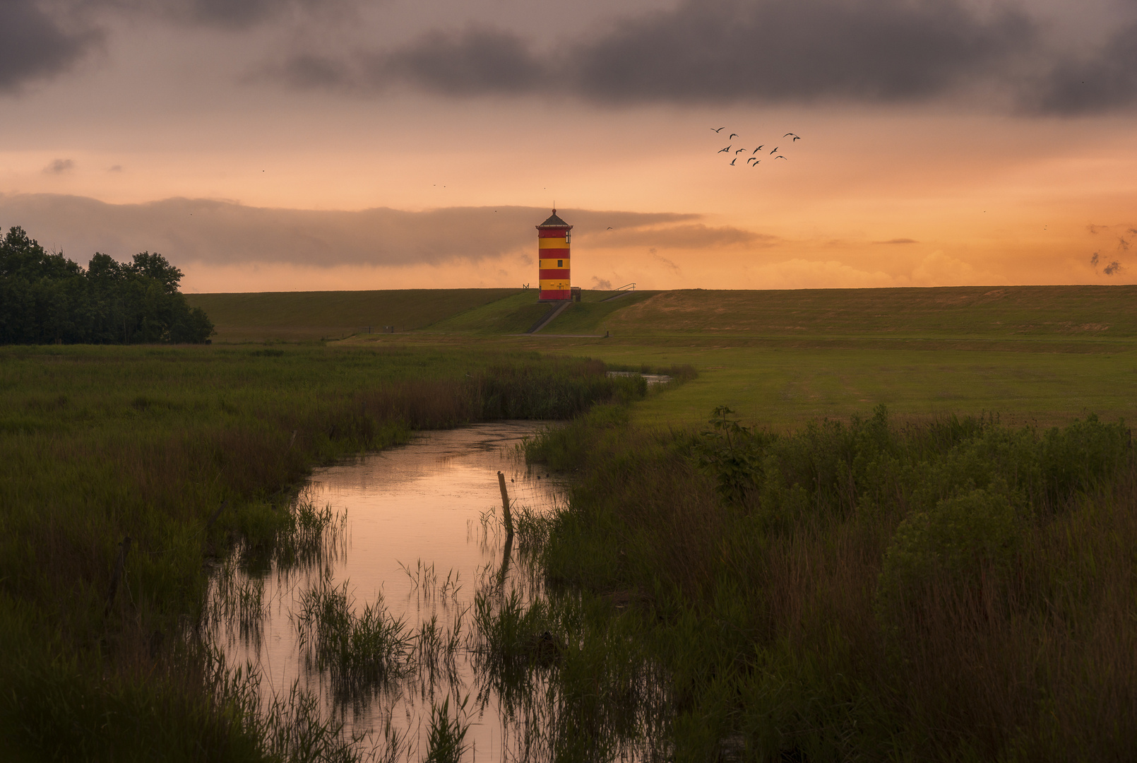
MULTIPOLYGON (((755 0, 729 13, 749 24, 747 8, 777 20, 802 5, 755 0)), ((525 17, 509 2, 474 3, 460 8, 476 17, 451 18, 443 11, 458 6, 450 3, 395 2, 383 17, 371 6, 349 13, 345 0, 339 16, 317 16, 318 24, 302 1, 288 18, 249 2, 236 20, 209 17, 213 6, 189 0, 177 13, 130 19, 111 3, 86 20, 98 43, 55 69, 6 74, 0 64, 0 225, 22 225, 82 263, 97 249, 119 259, 157 249, 185 272, 191 291, 536 282, 531 226, 554 200, 576 225, 573 282, 586 288, 1137 281, 1128 257, 1130 239, 1137 242, 1134 97, 1117 73, 1089 106, 1081 91, 1060 89, 1062 77, 1101 66, 1054 64, 1072 44, 1054 32, 1059 16, 999 20, 999 3, 974 11, 947 0, 916 1, 928 18, 903 16, 898 0, 816 5, 853 14, 843 24, 854 33, 863 26, 869 52, 880 47, 872 39, 880 19, 886 30, 907 24, 913 36, 928 34, 920 24, 956 24, 960 33, 929 39, 927 47, 947 52, 911 64, 927 69, 916 85, 890 78, 908 48, 888 53, 898 58, 881 74, 874 59, 857 64, 868 53, 855 49, 854 33, 853 49, 816 72, 770 71, 744 47, 724 69, 700 74, 694 58, 654 81, 636 68, 650 53, 629 63, 612 50, 634 51, 642 38, 687 55, 684 45, 706 43, 695 32, 692 41, 673 39, 673 27, 697 31, 699 7, 629 3, 621 20, 606 6, 581 3, 565 25, 576 48, 557 59, 559 68, 533 74, 540 59, 503 64, 498 51, 513 44, 506 32, 558 39, 548 34, 562 18, 553 3, 526 6, 525 17), (379 42, 358 33, 380 23, 379 42), (487 28, 497 35, 488 43, 487 28), (979 53, 977 39, 987 45, 979 53), (376 44, 380 52, 367 48, 376 44), (338 50, 355 58, 339 61, 338 50), (290 72, 301 53, 318 53, 324 68, 298 83, 290 72), (570 53, 607 68, 566 68, 570 53), (989 69, 973 68, 969 61, 982 56, 989 69), (711 92, 712 75, 731 72, 736 59, 752 67, 747 77, 798 76, 812 91, 747 92, 750 80, 741 78, 741 94, 711 92), (864 71, 846 76, 857 65, 864 71), (1043 75, 1059 84, 1044 92, 1043 75), (546 78, 534 84, 538 76, 546 78), (877 94, 918 85, 915 94, 877 94), (724 140, 731 132, 738 138, 724 140), (786 146, 786 132, 802 140, 786 146), (739 163, 765 143, 762 165, 729 166, 730 155, 716 154, 728 143, 746 148, 739 163), (774 146, 785 160, 765 152, 774 146), (495 223, 506 217, 496 207, 507 224, 495 223), (364 212, 375 209, 392 212, 364 212)), ((1074 30, 1078 41, 1117 56, 1111 30, 1135 19, 1117 3, 1093 7, 1099 28, 1074 30)))

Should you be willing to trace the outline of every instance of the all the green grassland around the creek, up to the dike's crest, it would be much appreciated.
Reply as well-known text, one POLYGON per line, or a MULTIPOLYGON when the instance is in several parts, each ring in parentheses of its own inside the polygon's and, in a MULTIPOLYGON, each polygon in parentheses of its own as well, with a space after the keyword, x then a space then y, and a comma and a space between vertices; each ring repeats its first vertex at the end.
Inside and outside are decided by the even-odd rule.
POLYGON ((13 754, 352 760, 308 699, 266 714, 191 648, 202 559, 302 554, 314 464, 526 416, 574 417, 528 455, 575 488, 518 520, 549 597, 478 632, 487 680, 546 692, 561 760, 1137 745, 1137 291, 608 296, 525 335, 532 292, 434 293, 391 335, 351 324, 409 292, 206 295, 211 347, 0 348, 13 754), (606 368, 682 383, 644 397, 606 368))

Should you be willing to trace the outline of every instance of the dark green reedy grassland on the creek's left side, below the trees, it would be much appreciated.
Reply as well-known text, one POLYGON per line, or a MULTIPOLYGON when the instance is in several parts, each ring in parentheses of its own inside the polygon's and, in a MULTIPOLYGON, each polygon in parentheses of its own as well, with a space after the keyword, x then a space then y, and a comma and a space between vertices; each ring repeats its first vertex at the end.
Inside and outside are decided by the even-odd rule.
POLYGON ((634 393, 603 370, 476 348, 0 348, 5 755, 349 760, 318 704, 266 716, 216 673, 193 636, 204 559, 318 541, 291 507, 313 464, 634 393))

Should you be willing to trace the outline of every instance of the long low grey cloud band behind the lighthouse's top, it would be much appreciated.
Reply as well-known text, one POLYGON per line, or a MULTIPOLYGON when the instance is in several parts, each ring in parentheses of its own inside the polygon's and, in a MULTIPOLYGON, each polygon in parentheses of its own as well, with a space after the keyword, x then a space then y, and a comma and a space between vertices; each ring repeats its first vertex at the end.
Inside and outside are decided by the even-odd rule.
MULTIPOLYGON (((85 263, 96 251, 118 259, 160 251, 175 263, 298 265, 439 265, 478 263, 536 242, 536 207, 375 208, 317 212, 247 207, 210 199, 113 205, 60 194, 0 194, 0 229, 19 225, 44 246, 85 263), (472 233, 476 232, 476 233, 472 233)), ((698 215, 562 209, 574 232, 607 225, 650 230, 698 215)))

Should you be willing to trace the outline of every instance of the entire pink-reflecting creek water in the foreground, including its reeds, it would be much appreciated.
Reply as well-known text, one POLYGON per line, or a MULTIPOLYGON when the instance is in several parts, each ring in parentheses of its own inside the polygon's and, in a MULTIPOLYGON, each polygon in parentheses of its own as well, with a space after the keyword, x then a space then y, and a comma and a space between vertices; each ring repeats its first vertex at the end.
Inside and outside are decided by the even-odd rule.
MULTIPOLYGON (((484 670, 487 641, 475 631, 479 617, 489 628, 503 606, 521 612, 540 594, 523 549, 505 537, 497 472, 515 515, 540 516, 563 500, 565 484, 517 453, 547 425, 431 432, 317 470, 301 500, 325 533, 306 563, 250 577, 230 559, 215 574, 213 638, 230 664, 259 665, 265 692, 297 681, 318 691, 349 732, 371 732, 380 746, 400 739, 400 757, 426 754, 432 708, 437 729, 442 703, 468 725, 463 760, 525 757, 518 747, 537 729, 503 722, 503 707, 508 716, 518 699, 484 670)), ((537 664, 547 669, 556 645, 547 633, 536 638, 531 648, 549 656, 537 664)), ((521 683, 547 688, 547 671, 521 683)))

